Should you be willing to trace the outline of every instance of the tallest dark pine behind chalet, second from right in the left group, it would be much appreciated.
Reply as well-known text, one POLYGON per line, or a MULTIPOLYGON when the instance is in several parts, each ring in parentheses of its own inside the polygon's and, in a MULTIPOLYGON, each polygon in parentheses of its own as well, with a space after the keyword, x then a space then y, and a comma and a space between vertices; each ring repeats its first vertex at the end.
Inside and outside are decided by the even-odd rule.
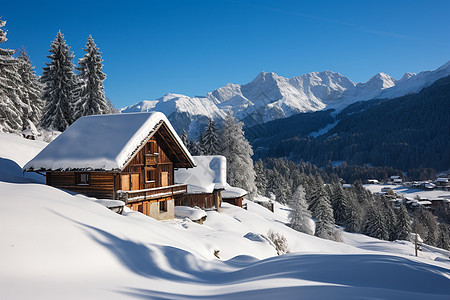
POLYGON ((73 105, 78 83, 74 74, 73 53, 61 31, 51 43, 51 59, 42 74, 45 108, 41 119, 44 128, 64 131, 74 121, 73 105))

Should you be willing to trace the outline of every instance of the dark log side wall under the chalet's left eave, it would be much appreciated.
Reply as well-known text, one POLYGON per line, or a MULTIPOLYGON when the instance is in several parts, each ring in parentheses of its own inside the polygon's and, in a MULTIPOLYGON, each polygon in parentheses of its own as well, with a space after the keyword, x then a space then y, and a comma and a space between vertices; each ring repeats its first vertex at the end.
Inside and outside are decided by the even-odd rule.
POLYGON ((77 185, 75 174, 75 172, 47 172, 46 181, 48 185, 89 197, 114 198, 114 173, 91 172, 89 185, 77 185))

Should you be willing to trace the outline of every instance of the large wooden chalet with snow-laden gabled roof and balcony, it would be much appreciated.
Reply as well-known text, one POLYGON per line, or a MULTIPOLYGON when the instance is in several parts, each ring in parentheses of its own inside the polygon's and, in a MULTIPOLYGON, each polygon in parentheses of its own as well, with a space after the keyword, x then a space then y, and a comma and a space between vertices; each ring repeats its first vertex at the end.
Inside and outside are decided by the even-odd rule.
POLYGON ((158 220, 174 217, 187 191, 174 170, 194 161, 167 118, 158 112, 78 119, 28 162, 48 185, 87 196, 123 200, 158 220))

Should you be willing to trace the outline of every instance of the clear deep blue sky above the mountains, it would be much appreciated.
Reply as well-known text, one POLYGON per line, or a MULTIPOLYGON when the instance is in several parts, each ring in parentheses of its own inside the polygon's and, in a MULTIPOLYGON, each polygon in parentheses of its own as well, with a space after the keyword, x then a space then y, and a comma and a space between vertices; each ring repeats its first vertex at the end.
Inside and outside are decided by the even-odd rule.
POLYGON ((205 95, 260 71, 331 70, 365 82, 450 60, 446 0, 13 2, 1 6, 1 47, 24 46, 41 74, 58 30, 76 59, 92 34, 119 108, 168 92, 205 95))

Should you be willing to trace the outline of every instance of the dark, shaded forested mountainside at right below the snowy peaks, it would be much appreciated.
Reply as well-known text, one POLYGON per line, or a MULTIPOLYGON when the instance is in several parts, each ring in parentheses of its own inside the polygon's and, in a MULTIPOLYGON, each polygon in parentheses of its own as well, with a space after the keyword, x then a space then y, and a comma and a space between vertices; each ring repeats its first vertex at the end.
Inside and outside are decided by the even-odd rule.
MULTIPOLYGON (((329 161, 345 161, 401 170, 445 170, 450 168, 449 99, 450 77, 446 77, 417 94, 370 102, 363 111, 355 109, 361 104, 355 104, 359 106, 344 110, 327 134, 280 138, 258 153, 263 154, 260 158, 287 157, 322 167, 329 161)), ((259 145, 258 139, 254 141, 259 145)))

